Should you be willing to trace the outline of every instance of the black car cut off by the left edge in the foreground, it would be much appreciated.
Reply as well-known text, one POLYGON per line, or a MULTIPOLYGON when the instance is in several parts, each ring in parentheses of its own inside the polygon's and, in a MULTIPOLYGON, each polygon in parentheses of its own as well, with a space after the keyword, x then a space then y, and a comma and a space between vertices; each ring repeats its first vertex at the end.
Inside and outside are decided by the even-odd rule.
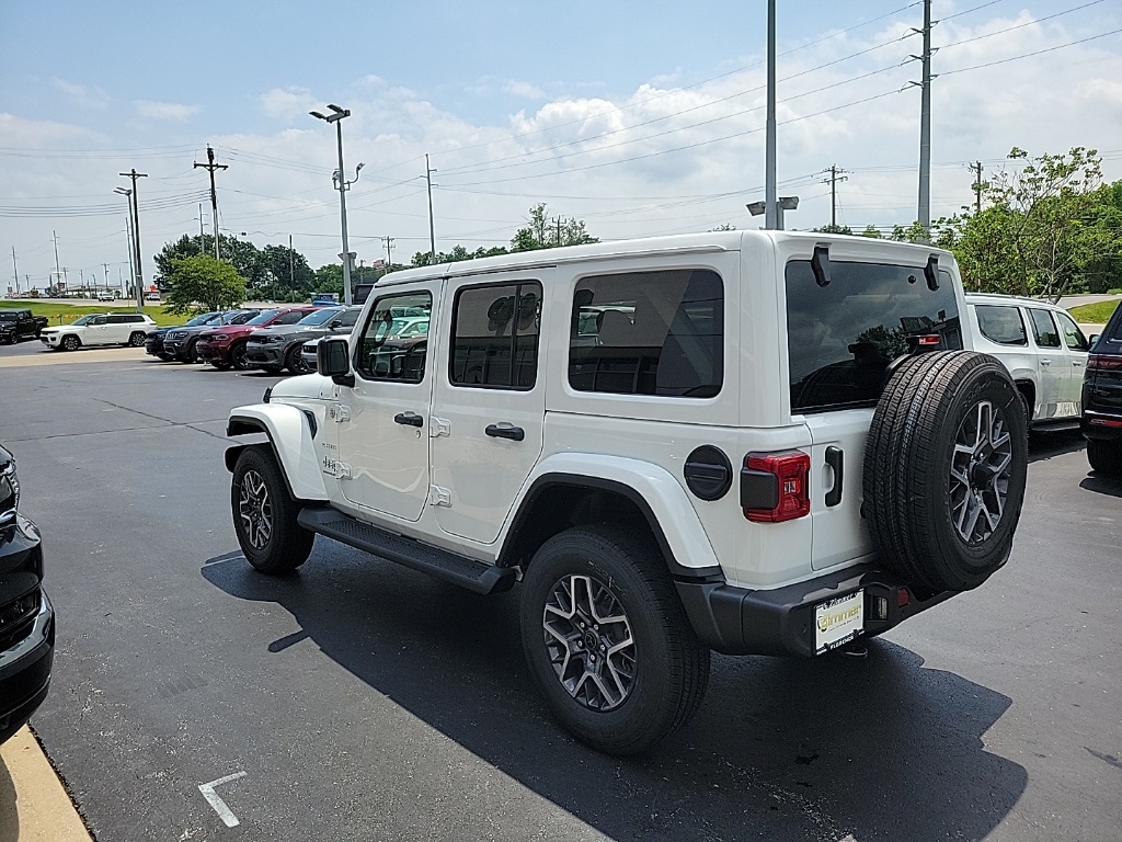
POLYGON ((16 460, 0 447, 0 742, 19 731, 47 697, 55 652, 39 530, 18 505, 16 460))

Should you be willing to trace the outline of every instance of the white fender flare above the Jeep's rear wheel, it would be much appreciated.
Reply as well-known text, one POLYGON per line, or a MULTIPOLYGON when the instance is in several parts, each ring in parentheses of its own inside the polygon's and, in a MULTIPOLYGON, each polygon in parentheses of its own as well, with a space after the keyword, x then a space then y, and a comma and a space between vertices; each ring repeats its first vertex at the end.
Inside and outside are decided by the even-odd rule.
POLYGON ((622 494, 643 513, 672 574, 724 576, 712 542, 681 483, 670 472, 649 461, 603 454, 565 452, 542 459, 523 486, 514 515, 499 536, 503 547, 509 546, 508 537, 525 525, 525 514, 537 495, 553 485, 622 494))

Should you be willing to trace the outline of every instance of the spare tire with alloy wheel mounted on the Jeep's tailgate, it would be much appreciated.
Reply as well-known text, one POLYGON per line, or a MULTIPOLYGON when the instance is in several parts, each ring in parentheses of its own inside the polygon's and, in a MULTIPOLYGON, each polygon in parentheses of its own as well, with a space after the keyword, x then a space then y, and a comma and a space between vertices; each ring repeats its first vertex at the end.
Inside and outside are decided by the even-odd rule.
POLYGON ((923 589, 977 587, 1009 558, 1027 470, 1021 396, 997 359, 905 360, 865 449, 862 511, 883 564, 923 589))

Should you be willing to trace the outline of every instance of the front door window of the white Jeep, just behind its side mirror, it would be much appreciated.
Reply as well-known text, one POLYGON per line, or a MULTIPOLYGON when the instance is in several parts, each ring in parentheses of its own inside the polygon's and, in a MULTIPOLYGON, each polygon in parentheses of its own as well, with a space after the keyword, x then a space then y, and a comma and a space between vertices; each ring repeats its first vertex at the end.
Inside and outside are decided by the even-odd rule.
POLYGON ((375 302, 355 349, 355 370, 368 381, 420 383, 424 379, 427 337, 402 339, 394 327, 403 313, 425 318, 432 312, 432 295, 411 292, 386 295, 375 302))

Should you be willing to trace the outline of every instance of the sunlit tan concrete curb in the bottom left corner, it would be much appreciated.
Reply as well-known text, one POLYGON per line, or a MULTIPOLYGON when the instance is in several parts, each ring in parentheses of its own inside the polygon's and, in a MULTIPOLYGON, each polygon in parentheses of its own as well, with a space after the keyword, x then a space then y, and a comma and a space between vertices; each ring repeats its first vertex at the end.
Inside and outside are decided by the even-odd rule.
POLYGON ((27 725, 0 745, 0 840, 93 842, 27 725))

